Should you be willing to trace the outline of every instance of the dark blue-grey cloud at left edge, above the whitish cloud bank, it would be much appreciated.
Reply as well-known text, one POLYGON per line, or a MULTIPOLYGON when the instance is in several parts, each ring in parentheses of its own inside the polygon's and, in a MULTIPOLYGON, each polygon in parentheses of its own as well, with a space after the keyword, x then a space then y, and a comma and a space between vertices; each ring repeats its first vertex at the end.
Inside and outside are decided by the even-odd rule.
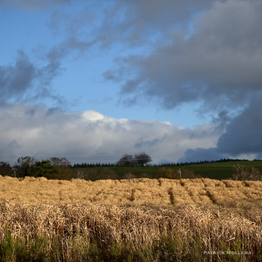
POLYGON ((0 65, 0 105, 47 97, 61 102, 63 98, 49 89, 60 72, 60 63, 50 60, 47 65, 39 67, 23 51, 18 51, 13 65, 0 65))

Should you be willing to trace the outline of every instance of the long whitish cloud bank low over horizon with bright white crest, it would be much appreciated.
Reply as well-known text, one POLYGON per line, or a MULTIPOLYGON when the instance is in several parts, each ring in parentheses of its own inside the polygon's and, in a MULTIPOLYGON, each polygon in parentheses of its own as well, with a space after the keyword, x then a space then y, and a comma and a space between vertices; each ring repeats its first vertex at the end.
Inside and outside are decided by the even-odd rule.
POLYGON ((190 146, 215 145, 219 137, 215 127, 190 129, 159 121, 116 119, 93 110, 68 113, 28 104, 8 105, 0 108, 0 158, 10 163, 25 155, 116 162, 124 153, 145 151, 154 163, 162 159, 174 162, 190 146))

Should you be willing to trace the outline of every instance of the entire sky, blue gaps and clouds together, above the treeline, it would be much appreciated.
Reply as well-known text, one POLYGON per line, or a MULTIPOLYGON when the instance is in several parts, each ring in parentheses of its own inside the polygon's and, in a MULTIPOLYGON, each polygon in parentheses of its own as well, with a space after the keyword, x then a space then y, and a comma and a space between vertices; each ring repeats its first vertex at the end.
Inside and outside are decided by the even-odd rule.
POLYGON ((0 0, 0 162, 262 159, 261 0, 0 0))

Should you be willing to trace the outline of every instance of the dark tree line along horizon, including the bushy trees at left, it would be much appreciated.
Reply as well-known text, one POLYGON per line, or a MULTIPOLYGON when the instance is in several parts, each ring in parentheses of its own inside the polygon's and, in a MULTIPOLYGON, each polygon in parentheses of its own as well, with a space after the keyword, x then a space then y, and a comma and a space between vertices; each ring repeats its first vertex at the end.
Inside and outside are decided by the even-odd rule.
MULTIPOLYGON (((70 176, 70 168, 92 168, 92 167, 171 167, 171 166, 187 166, 187 165, 196 165, 196 164, 210 164, 210 163, 220 163, 220 162, 234 162, 234 161, 248 161, 245 159, 220 159, 220 160, 204 160, 197 162, 178 162, 178 163, 162 163, 162 164, 150 164, 152 161, 150 155, 145 152, 138 154, 124 154, 116 163, 93 163, 93 164, 70 164, 65 157, 51 157, 47 160, 38 161, 34 157, 25 156, 19 157, 17 162, 13 167, 9 163, 0 162, 0 175, 5 176, 35 176, 35 177, 46 177, 46 178, 66 178, 70 176), (13 170, 12 170, 13 168, 13 170)), ((261 160, 254 160, 261 161, 261 160)), ((70 178, 69 178, 70 179, 70 178)))

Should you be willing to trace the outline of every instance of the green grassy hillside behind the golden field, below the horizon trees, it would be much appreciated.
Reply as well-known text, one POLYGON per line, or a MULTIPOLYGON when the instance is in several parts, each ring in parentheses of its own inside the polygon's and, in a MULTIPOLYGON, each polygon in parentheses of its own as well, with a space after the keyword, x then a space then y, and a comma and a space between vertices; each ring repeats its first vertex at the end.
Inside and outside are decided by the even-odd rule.
MULTIPOLYGON (((181 169, 182 178, 183 178, 183 170, 194 170, 196 175, 200 175, 204 178, 211 179, 228 179, 231 176, 231 172, 233 169, 233 165, 245 165, 256 167, 262 172, 262 161, 236 161, 236 162, 222 162, 222 163, 212 163, 212 164, 198 164, 198 165, 189 165, 189 166, 181 166, 181 167, 167 167, 174 170, 181 169)), ((146 173, 148 178, 155 178, 157 174, 157 170, 160 167, 109 167, 113 170, 118 177, 121 179, 124 177, 125 173, 131 172, 137 178, 144 177, 142 174, 146 173)), ((103 167, 93 167, 93 168, 79 168, 79 169, 71 169, 72 172, 77 172, 77 170, 96 170, 99 174, 102 172, 103 167)))

